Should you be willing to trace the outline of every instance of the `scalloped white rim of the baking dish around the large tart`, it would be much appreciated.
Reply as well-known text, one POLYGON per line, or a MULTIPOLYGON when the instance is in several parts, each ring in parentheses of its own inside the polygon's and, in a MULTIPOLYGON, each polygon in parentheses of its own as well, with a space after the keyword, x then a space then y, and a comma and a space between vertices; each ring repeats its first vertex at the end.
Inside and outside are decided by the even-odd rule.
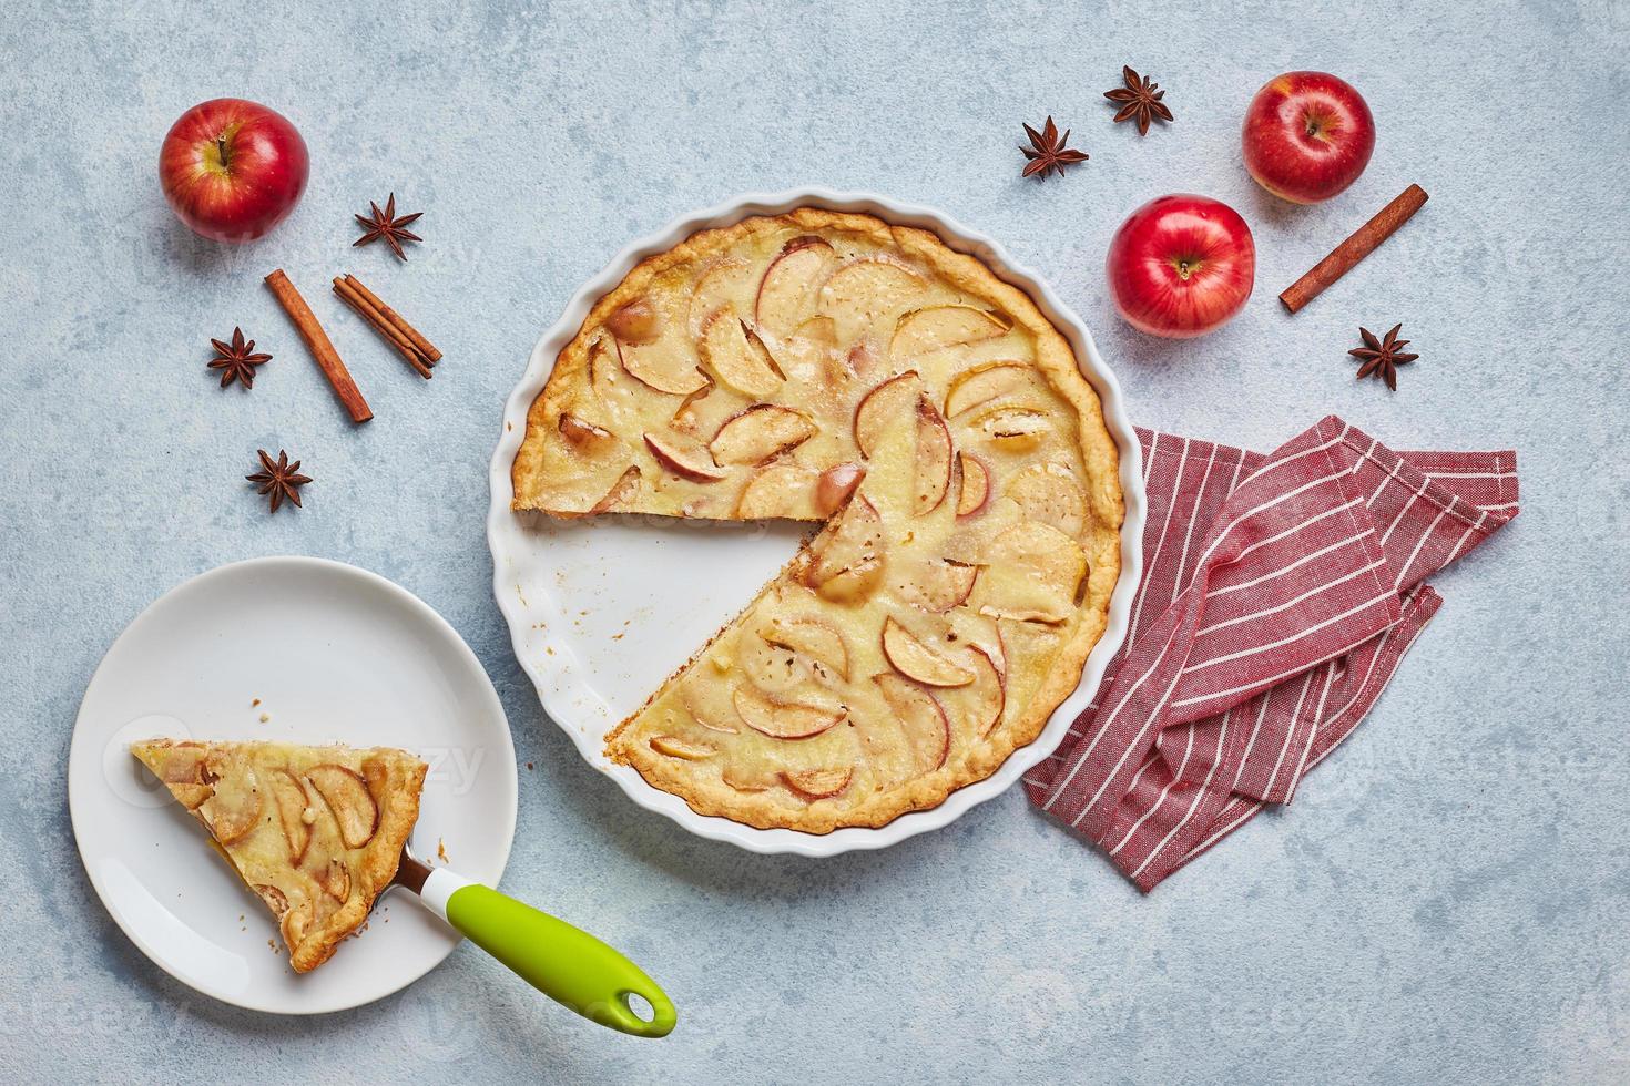
MULTIPOLYGON (((491 485, 492 503, 487 510, 487 547, 492 550, 492 594, 504 620, 509 622, 515 656, 538 690, 549 718, 577 746, 584 760, 610 777, 628 796, 645 808, 665 814, 689 832, 711 840, 722 840, 758 853, 795 853, 804 856, 835 856, 857 848, 887 848, 908 837, 949 825, 975 804, 1001 795, 1030 767, 1037 765, 1063 742, 1071 721, 1092 700, 1110 658, 1120 650, 1126 635, 1133 594, 1143 573, 1144 488, 1143 454, 1138 435, 1121 397, 1115 374, 1099 355, 1086 322, 1060 300, 1046 282, 1030 269, 1015 262, 993 238, 970 230, 931 207, 903 204, 872 192, 835 192, 823 187, 791 189, 786 192, 748 192, 722 204, 675 218, 662 230, 626 244, 598 275, 593 275, 566 303, 559 319, 538 339, 526 363, 526 371, 504 405, 504 425, 499 430, 497 448, 492 451, 491 485), (1110 596, 1108 625, 1104 637, 1087 656, 1081 684, 1066 697, 1046 728, 1027 746, 1014 751, 1001 769, 985 780, 965 785, 950 793, 937 808, 911 811, 880 827, 844 827, 831 834, 805 834, 791 829, 756 829, 719 816, 698 814, 685 799, 645 783, 634 769, 613 765, 605 757, 605 731, 570 728, 574 710, 566 702, 561 685, 564 661, 559 656, 540 656, 525 651, 525 635, 531 625, 528 604, 518 593, 507 591, 517 583, 515 558, 522 554, 517 544, 526 534, 520 518, 510 510, 515 497, 510 480, 510 464, 526 433, 526 410, 543 391, 561 348, 577 334, 584 317, 595 301, 616 287, 641 261, 672 249, 699 230, 730 226, 755 215, 781 215, 795 207, 820 207, 835 212, 859 212, 875 215, 900 226, 929 230, 958 252, 968 252, 983 261, 998 277, 1025 291, 1043 316, 1063 332, 1076 352, 1082 376, 1092 384, 1104 405, 1104 420, 1120 446, 1120 484, 1126 503, 1126 519, 1121 526, 1120 580, 1110 596)), ((742 601, 747 604, 747 599, 742 601)), ((616 721, 613 721, 615 725, 616 721)))

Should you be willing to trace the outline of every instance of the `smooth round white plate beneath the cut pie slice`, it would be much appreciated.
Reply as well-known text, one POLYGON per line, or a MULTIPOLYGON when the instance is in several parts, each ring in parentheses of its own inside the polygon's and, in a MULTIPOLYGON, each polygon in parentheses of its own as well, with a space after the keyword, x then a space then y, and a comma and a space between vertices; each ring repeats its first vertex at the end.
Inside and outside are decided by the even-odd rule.
POLYGON ((321 558, 256 558, 196 576, 137 615, 91 677, 68 752, 68 811, 91 884, 124 933, 217 1000, 285 1014, 359 1006, 427 974, 460 936, 386 894, 360 936, 295 975, 266 905, 130 755, 132 741, 153 736, 414 751, 430 764, 414 850, 434 860, 443 842, 456 871, 489 886, 509 860, 509 721, 474 653, 429 604, 321 558))

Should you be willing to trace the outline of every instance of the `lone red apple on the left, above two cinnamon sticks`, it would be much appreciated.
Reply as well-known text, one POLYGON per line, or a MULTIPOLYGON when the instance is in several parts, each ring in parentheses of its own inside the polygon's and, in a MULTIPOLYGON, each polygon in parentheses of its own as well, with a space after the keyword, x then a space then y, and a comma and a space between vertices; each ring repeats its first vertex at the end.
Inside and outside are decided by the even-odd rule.
POLYGON ((158 151, 176 217, 215 241, 254 241, 300 202, 311 160, 289 119, 241 98, 181 114, 158 151))

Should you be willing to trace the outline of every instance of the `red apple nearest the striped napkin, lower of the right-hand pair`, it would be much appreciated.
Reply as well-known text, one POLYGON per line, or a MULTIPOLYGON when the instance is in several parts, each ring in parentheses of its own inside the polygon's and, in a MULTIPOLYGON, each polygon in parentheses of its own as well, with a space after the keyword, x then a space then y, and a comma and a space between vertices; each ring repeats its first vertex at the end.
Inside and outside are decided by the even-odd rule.
POLYGON ((1131 213, 1105 261, 1115 308, 1139 332, 1205 335, 1245 308, 1257 246, 1239 212, 1205 195, 1162 195, 1131 213))

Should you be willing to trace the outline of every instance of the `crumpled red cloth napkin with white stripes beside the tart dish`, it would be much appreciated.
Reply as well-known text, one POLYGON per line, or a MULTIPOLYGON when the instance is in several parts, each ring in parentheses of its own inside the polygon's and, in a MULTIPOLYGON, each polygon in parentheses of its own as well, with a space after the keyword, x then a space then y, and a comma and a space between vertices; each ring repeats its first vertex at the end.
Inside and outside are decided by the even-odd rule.
POLYGON ((1268 456, 1138 430, 1149 518, 1120 653, 1032 803, 1144 892, 1341 742, 1518 513, 1516 454, 1394 453, 1337 417, 1268 456))

